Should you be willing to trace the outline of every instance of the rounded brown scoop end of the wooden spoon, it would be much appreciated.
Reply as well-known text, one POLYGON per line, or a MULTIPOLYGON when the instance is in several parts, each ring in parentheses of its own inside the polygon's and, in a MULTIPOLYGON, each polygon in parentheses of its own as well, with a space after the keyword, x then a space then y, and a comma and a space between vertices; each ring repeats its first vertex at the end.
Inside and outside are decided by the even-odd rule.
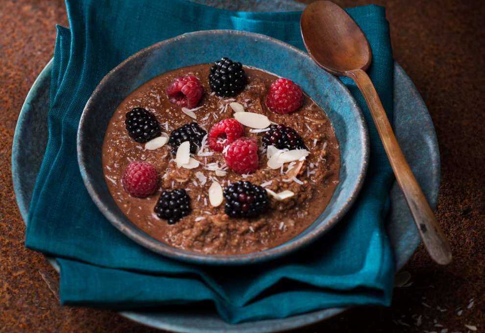
POLYGON ((317 1, 308 5, 300 27, 308 53, 325 70, 344 75, 346 71, 365 71, 369 67, 372 52, 364 33, 335 3, 317 1))

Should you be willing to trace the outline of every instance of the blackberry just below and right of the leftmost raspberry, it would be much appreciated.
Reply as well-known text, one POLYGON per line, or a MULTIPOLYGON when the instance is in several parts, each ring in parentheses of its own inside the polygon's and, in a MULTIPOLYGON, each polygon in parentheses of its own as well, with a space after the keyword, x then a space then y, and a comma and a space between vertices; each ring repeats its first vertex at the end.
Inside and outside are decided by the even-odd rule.
POLYGON ((190 196, 183 189, 163 191, 155 205, 154 212, 159 218, 175 224, 179 219, 191 212, 190 196))

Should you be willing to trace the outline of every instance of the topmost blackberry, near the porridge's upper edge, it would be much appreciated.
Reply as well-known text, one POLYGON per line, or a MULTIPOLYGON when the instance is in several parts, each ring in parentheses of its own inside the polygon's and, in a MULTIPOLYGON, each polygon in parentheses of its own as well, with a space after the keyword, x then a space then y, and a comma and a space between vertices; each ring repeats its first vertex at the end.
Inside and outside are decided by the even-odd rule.
POLYGON ((240 62, 222 58, 214 63, 209 74, 209 85, 220 97, 232 97, 242 92, 246 86, 246 73, 240 62))

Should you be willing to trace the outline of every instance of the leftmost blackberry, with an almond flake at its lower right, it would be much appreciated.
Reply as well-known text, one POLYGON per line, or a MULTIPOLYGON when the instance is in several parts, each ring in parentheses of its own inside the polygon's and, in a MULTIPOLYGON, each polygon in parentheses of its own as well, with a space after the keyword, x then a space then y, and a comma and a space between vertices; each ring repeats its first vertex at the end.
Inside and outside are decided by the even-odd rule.
POLYGON ((126 113, 126 130, 136 142, 145 143, 160 136, 160 125, 153 114, 143 108, 134 108, 126 113))

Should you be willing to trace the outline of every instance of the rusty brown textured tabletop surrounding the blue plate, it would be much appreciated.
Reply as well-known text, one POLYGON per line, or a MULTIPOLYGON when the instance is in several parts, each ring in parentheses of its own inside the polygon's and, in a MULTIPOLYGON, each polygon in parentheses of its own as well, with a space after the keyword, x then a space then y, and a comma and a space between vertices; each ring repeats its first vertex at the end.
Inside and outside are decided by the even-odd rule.
MULTIPOLYGON (((420 246, 405 267, 413 284, 395 290, 391 308, 353 309, 298 332, 465 333, 465 324, 485 332, 485 1, 336 2, 387 7, 394 57, 435 122, 442 163, 437 217, 454 261, 437 266, 420 246)), ((59 306, 40 274, 56 279, 55 272, 24 248, 10 174, 12 137, 25 95, 52 57, 55 23, 67 25, 62 0, 0 0, 0 331, 154 332, 112 311, 59 306)))

